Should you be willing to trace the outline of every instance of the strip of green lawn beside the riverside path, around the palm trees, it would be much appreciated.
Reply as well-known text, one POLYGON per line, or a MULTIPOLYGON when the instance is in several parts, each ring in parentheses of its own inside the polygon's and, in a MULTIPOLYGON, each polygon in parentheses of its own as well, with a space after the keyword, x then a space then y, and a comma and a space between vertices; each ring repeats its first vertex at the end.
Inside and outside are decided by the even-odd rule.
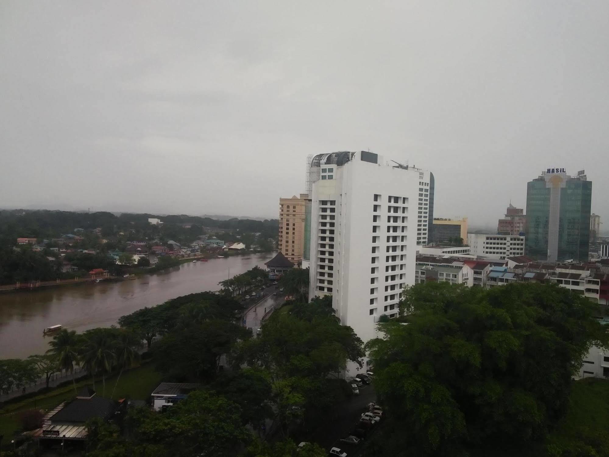
MULTIPOLYGON (((118 375, 114 375, 106 380, 105 396, 109 397, 114 388, 114 383, 118 375)), ((150 393, 158 386, 161 381, 161 374, 154 370, 151 363, 144 364, 124 371, 121 379, 116 386, 113 399, 128 397, 133 400, 146 400, 150 393)), ((76 383, 76 388, 91 384, 91 378, 76 383)), ((96 379, 95 388, 98 395, 102 394, 102 380, 96 379)), ((2 443, 6 445, 7 439, 10 443, 10 436, 13 436, 19 429, 19 412, 26 409, 51 409, 61 402, 74 398, 74 387, 72 384, 54 389, 47 394, 39 395, 32 399, 24 400, 19 403, 12 403, 0 409, 0 435, 4 435, 2 443)))

